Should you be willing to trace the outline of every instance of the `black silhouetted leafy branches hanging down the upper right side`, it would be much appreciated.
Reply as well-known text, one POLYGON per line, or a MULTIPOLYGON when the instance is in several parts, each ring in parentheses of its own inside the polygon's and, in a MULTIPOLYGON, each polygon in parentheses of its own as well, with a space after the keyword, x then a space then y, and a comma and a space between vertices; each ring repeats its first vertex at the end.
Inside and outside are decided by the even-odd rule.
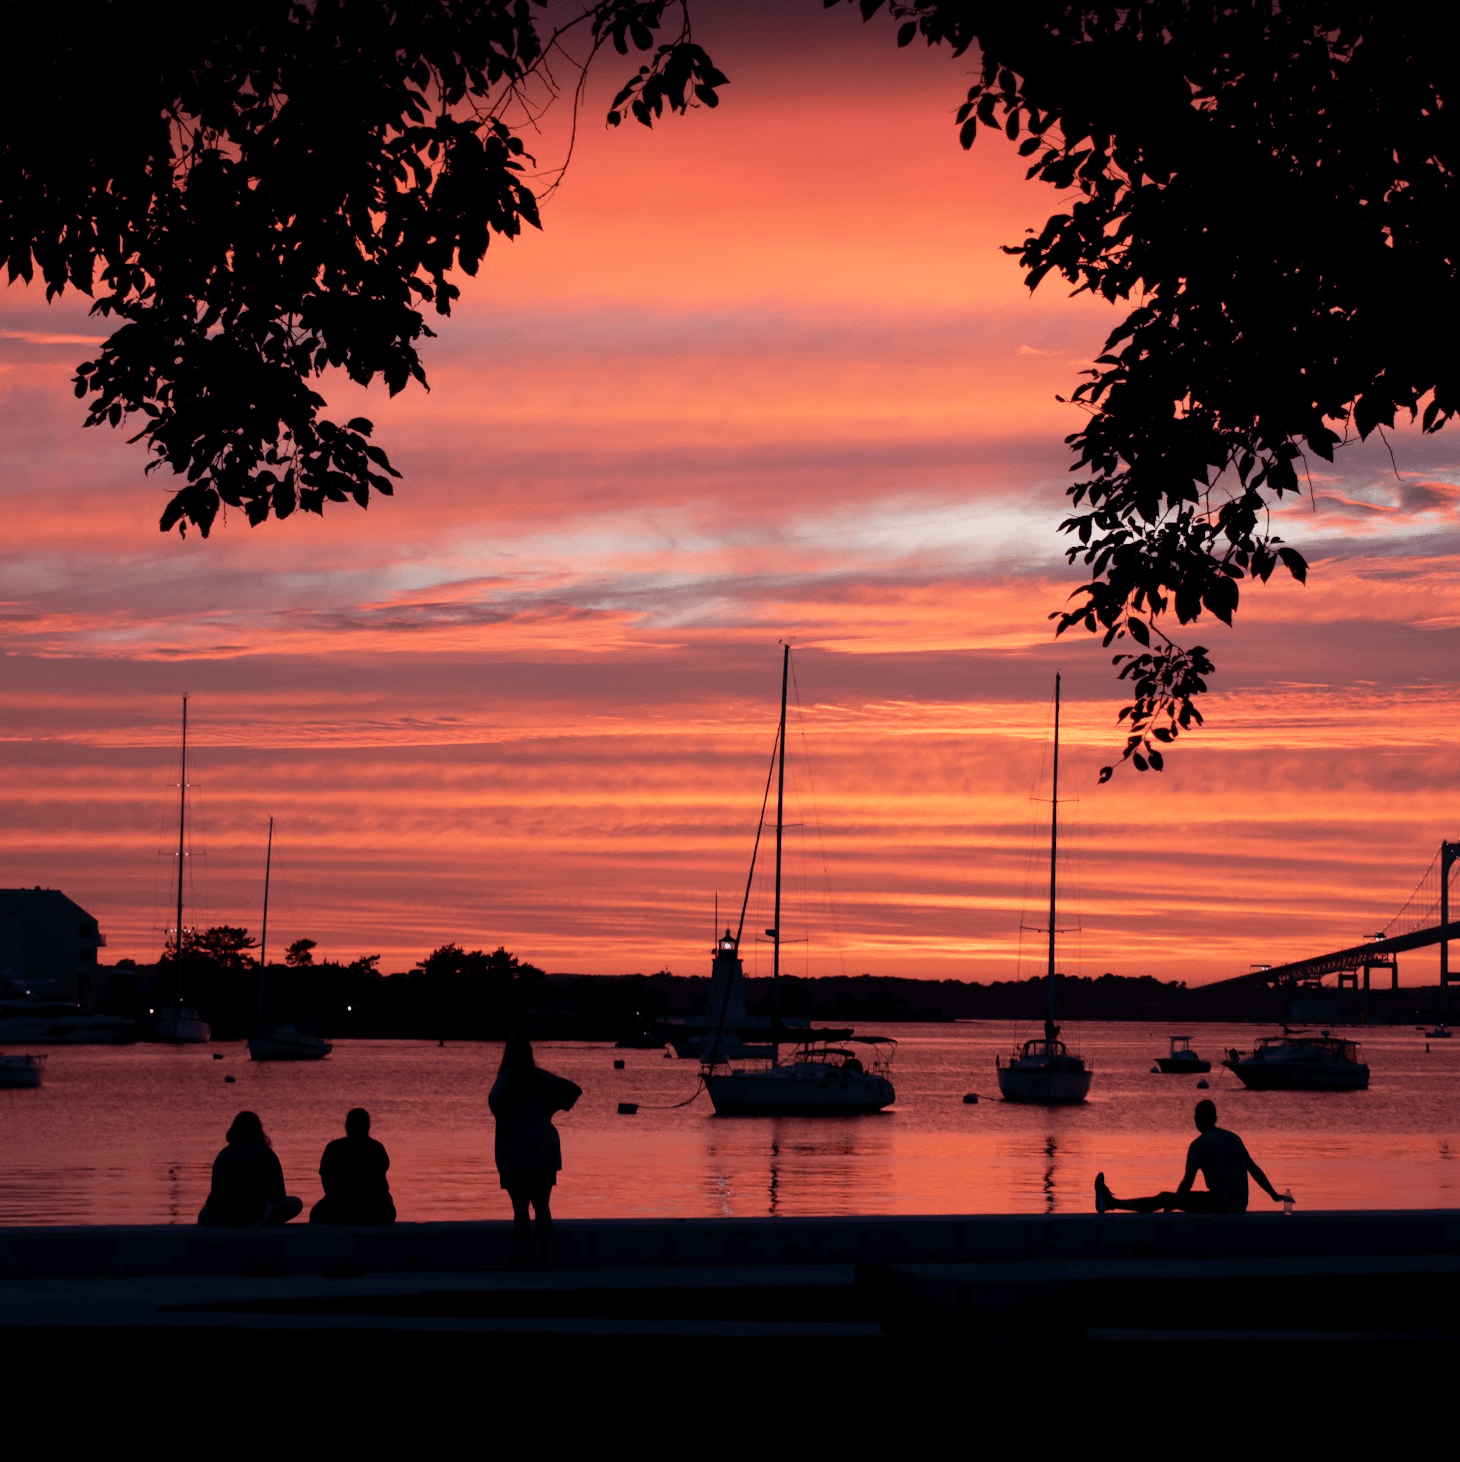
MULTIPOLYGON (((834 4, 837 0, 826 0, 834 4)), ((1073 399, 1083 477, 1055 616, 1106 646, 1136 699, 1125 757, 1200 722, 1212 671, 1157 621, 1232 623, 1241 583, 1299 553, 1269 509, 1403 414, 1438 431, 1460 408, 1460 199, 1454 7, 1362 0, 855 0, 975 51, 957 114, 997 129, 1068 203, 1013 246, 1030 288, 1051 273, 1134 308, 1073 399)), ((1102 770, 1102 781, 1111 775, 1102 770)))

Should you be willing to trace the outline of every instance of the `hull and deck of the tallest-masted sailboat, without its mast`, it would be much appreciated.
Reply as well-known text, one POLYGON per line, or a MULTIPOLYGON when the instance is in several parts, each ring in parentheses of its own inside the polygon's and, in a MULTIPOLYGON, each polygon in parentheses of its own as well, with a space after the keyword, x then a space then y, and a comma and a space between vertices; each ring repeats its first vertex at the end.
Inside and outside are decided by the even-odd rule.
POLYGON ((880 1035, 846 1039, 848 1045, 807 1041, 789 1061, 763 1070, 706 1072, 715 1111, 721 1117, 815 1117, 890 1107, 897 1094, 887 1073, 897 1042, 880 1035))

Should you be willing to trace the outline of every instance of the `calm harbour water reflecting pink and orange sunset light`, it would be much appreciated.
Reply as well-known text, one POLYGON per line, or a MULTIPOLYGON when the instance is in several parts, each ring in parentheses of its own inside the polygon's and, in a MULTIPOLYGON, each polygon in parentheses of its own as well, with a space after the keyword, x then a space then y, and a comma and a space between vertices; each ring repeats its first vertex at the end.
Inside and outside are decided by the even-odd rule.
MULTIPOLYGON (((1118 1193, 1181 1177, 1197 1077, 1150 1075, 1166 1047, 1160 1026, 1081 1026, 1076 1044, 1095 1064, 1095 1088, 1086 1105, 1064 1110, 997 1099, 994 1053, 1011 1038, 1004 1023, 881 1034, 900 1042, 897 1105, 820 1120, 716 1118, 704 1095, 653 1110, 694 1091, 693 1063, 539 1045, 541 1063, 585 1092, 558 1118, 564 1173, 554 1211, 1079 1212, 1090 1208, 1100 1168, 1118 1193), (615 1057, 624 1070, 612 1069, 615 1057), (969 1091, 978 1105, 963 1104, 969 1091), (617 1116, 620 1101, 640 1102, 639 1114, 617 1116)), ((1198 1026, 1194 1044, 1214 1060, 1261 1034, 1267 1028, 1198 1026)), ((1372 1067, 1366 1092, 1248 1092, 1219 1070, 1209 1080, 1222 1124, 1242 1133, 1302 1206, 1454 1206, 1460 1039, 1435 1041, 1426 1054, 1412 1029, 1356 1034, 1372 1067)), ((402 1219, 507 1216, 487 1113, 500 1054, 498 1045, 339 1041, 324 1061, 256 1066, 241 1044, 53 1048, 38 1091, 0 1091, 0 1222, 193 1222, 228 1121, 244 1107, 263 1117, 289 1192, 311 1203, 320 1151, 355 1105, 370 1108, 390 1149, 402 1219)))

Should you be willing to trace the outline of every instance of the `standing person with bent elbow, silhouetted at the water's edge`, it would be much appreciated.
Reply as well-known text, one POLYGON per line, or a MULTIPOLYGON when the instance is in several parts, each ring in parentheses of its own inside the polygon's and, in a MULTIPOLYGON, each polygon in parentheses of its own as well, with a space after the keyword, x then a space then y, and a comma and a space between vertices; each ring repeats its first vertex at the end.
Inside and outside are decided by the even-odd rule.
POLYGON ((563 1167, 563 1142, 552 1114, 569 1111, 582 1095, 583 1088, 576 1082, 538 1066, 525 1035, 507 1039, 487 1105, 497 1118, 497 1174, 512 1199, 513 1263, 519 1269, 532 1265, 529 1208, 536 1216, 538 1263, 548 1266, 552 1241, 548 1202, 563 1167))

